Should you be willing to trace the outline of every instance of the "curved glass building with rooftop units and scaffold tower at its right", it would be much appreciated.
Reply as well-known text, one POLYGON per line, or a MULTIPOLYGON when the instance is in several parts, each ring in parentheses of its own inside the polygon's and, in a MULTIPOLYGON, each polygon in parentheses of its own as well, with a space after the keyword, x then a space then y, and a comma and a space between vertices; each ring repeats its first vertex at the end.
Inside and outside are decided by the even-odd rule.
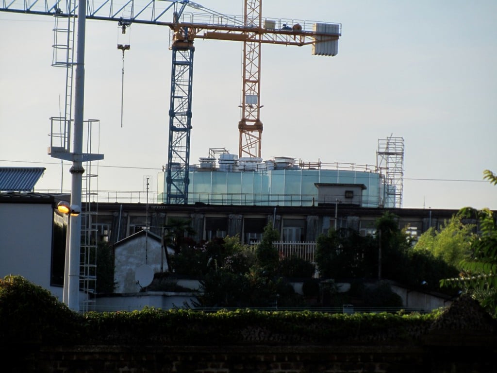
MULTIPOLYGON (((239 158, 226 149, 210 149, 209 157, 199 162, 189 169, 189 204, 402 207, 404 139, 400 137, 378 140, 376 165, 290 157, 262 161, 239 158)), ((158 180, 163 189, 157 202, 166 202, 166 173, 158 180)))

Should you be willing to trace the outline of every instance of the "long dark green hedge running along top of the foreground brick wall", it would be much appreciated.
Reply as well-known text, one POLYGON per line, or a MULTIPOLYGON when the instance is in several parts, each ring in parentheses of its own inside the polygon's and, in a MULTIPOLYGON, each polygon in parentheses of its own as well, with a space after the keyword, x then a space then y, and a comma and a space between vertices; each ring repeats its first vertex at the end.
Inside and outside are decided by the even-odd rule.
POLYGON ((348 315, 156 308, 82 315, 21 277, 8 276, 0 280, 0 340, 4 344, 416 343, 439 315, 440 312, 348 315))

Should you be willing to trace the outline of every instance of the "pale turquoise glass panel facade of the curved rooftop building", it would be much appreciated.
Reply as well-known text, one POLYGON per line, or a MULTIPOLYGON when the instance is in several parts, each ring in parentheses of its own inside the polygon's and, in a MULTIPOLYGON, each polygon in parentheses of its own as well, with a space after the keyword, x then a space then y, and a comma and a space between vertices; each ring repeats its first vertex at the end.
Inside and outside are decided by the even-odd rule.
MULTIPOLYGON (((164 183, 166 174, 158 180, 164 183)), ((188 203, 312 206, 318 200, 315 184, 365 185, 361 207, 389 206, 384 199, 383 176, 375 172, 354 170, 283 169, 267 171, 223 172, 190 171, 188 203)), ((166 195, 161 194, 166 200, 166 195)))

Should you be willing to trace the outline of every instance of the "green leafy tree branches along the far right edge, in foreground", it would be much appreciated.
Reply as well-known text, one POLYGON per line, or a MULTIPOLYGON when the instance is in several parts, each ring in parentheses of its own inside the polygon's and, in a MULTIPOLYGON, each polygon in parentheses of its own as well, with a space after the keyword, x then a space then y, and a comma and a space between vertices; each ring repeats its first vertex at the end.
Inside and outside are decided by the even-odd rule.
MULTIPOLYGON (((484 171, 484 179, 497 185, 497 175, 484 171)), ((474 209, 465 207, 461 216, 468 216, 474 209)), ((460 263, 459 278, 441 280, 442 285, 462 287, 478 299, 494 317, 497 317, 497 224, 490 209, 477 211, 479 234, 472 237, 471 257, 460 263)))

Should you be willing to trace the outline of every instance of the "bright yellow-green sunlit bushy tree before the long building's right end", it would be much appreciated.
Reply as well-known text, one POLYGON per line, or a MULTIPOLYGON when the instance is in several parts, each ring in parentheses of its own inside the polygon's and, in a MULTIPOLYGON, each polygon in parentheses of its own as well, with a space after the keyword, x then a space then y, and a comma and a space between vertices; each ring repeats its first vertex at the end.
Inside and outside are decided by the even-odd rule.
POLYGON ((434 258, 457 267, 470 255, 470 241, 475 225, 464 224, 460 215, 454 215, 444 222, 440 231, 430 227, 414 246, 414 251, 427 251, 434 258))

